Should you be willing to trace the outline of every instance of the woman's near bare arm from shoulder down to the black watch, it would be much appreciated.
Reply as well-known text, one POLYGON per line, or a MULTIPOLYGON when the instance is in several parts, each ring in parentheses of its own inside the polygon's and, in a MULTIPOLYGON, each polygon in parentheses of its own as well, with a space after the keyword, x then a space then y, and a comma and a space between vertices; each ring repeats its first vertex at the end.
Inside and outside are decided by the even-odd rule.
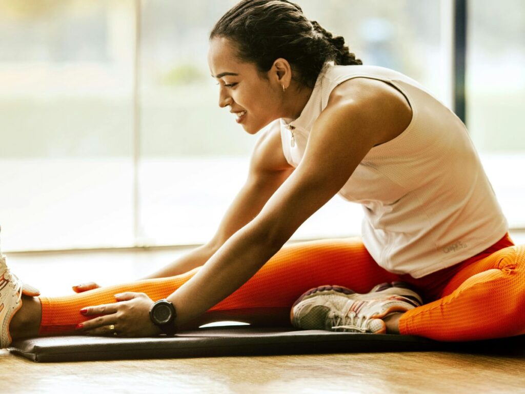
POLYGON ((230 237, 190 281, 168 297, 177 308, 178 324, 190 322, 247 282, 342 188, 372 147, 395 138, 406 128, 411 112, 409 108, 408 112, 400 111, 400 106, 406 105, 404 98, 385 84, 364 84, 355 84, 356 89, 364 91, 360 96, 351 95, 352 99, 336 92, 314 124, 297 169, 253 221, 230 237), (400 106, 392 105, 391 100, 401 100, 400 106))

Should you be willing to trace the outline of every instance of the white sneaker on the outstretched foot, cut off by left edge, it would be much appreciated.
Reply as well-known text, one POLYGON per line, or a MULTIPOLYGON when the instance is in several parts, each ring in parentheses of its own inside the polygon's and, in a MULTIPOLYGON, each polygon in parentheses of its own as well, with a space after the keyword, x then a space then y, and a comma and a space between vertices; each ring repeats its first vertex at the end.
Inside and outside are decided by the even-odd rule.
POLYGON ((0 349, 11 344, 9 323, 18 309, 22 307, 22 282, 16 275, 9 272, 5 256, 0 252, 0 349))

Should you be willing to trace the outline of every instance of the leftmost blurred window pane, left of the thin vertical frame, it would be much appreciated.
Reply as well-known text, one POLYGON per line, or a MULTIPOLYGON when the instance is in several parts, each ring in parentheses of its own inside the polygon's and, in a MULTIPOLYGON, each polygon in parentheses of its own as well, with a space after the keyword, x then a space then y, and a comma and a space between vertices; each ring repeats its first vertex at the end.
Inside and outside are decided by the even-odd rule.
POLYGON ((133 19, 119 0, 0 1, 6 249, 133 244, 133 19))

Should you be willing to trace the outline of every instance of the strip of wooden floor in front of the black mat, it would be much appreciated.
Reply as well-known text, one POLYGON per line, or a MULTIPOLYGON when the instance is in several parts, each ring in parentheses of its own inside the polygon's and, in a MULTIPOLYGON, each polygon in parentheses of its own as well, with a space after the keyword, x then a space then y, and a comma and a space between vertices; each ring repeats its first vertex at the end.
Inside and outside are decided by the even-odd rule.
POLYGON ((0 351, 2 391, 24 393, 519 393, 524 370, 523 356, 444 352, 39 364, 0 351))

